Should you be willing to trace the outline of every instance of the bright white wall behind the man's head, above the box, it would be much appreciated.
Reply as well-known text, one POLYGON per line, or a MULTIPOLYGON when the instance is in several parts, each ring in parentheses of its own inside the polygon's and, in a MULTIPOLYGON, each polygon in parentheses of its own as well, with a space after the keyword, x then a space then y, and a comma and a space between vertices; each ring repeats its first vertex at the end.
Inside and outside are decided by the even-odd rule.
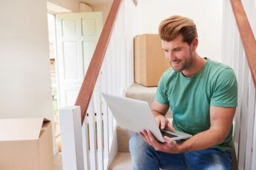
POLYGON ((138 1, 138 34, 158 33, 159 23, 169 16, 187 16, 196 23, 199 55, 221 61, 223 1, 138 1))

